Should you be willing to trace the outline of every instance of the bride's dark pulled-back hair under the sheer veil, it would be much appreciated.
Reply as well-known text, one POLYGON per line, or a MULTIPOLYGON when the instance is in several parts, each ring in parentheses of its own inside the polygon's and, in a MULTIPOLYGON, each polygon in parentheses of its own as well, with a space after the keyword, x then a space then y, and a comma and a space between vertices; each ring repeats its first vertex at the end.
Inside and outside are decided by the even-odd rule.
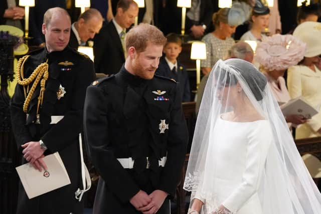
POLYGON ((255 99, 257 101, 263 99, 262 93, 267 81, 265 76, 251 63, 241 59, 227 59, 224 61, 224 67, 217 67, 217 69, 220 69, 220 71, 213 71, 215 72, 216 84, 222 87, 236 85, 238 80, 234 72, 237 72, 247 83, 255 99))

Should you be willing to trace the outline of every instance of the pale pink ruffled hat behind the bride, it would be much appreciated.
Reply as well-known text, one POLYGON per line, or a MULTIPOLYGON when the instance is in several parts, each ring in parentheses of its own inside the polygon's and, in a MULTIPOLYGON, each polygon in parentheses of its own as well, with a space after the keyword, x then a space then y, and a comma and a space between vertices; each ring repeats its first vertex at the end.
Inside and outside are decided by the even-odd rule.
POLYGON ((292 35, 276 34, 258 43, 255 61, 268 71, 284 70, 303 59, 305 47, 305 43, 292 35))

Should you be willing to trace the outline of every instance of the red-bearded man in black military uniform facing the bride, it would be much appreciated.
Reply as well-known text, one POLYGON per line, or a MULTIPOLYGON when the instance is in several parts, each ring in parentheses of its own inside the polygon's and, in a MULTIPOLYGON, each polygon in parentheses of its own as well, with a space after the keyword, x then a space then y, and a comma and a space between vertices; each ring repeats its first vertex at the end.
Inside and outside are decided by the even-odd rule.
POLYGON ((154 76, 165 43, 154 26, 132 28, 120 72, 87 89, 85 138, 100 173, 94 214, 170 213, 188 131, 179 85, 154 76))

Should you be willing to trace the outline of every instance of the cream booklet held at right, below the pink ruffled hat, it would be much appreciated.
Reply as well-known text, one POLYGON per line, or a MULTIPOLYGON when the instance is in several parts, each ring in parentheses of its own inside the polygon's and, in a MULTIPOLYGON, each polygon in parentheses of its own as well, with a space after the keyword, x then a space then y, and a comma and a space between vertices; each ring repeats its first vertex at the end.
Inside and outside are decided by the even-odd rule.
POLYGON ((303 97, 297 97, 280 105, 284 116, 302 115, 305 119, 310 119, 318 113, 318 109, 312 107, 303 97))

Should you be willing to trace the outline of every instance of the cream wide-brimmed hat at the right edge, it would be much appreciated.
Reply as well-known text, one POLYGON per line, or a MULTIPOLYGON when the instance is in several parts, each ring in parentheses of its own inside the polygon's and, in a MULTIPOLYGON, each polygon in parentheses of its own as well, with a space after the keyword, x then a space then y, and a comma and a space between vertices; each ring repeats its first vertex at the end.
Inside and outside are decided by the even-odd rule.
POLYGON ((321 23, 304 22, 295 28, 293 36, 306 43, 304 57, 321 55, 321 23))

